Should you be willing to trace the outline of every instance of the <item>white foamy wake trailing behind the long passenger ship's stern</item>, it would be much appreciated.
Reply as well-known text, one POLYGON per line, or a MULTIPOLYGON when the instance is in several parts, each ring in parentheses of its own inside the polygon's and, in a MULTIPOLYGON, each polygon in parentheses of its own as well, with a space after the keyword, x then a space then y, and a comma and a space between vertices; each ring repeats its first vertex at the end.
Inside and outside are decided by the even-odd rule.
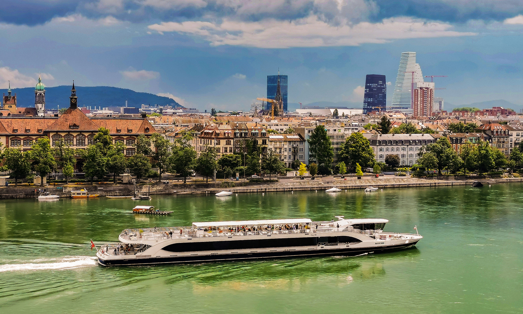
POLYGON ((36 270, 65 270, 79 267, 96 266, 97 258, 90 256, 69 256, 56 259, 37 259, 28 260, 24 264, 3 264, 0 265, 1 272, 11 271, 36 271, 36 270), (42 263, 50 261, 51 263, 42 263), (52 262, 54 261, 54 262, 52 262))

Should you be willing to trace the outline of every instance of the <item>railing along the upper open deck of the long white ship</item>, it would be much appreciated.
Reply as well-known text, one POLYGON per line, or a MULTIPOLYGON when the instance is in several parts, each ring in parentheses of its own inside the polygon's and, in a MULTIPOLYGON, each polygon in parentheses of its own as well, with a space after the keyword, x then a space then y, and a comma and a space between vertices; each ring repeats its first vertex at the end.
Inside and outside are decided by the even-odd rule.
POLYGON ((324 233, 336 231, 348 231, 366 236, 374 236, 380 232, 378 230, 359 230, 354 228, 337 228, 328 222, 327 226, 313 225, 311 228, 304 229, 282 229, 282 230, 257 230, 257 231, 229 231, 225 230, 211 230, 203 231, 187 228, 156 228, 156 229, 126 229, 120 234, 120 237, 129 241, 132 240, 165 240, 165 239, 180 239, 180 238, 208 238, 208 237, 233 237, 233 236, 258 236, 258 235, 282 235, 282 234, 309 234, 309 233, 324 233), (181 233, 180 233, 181 230, 181 233), (171 233, 172 232, 172 233, 171 233))

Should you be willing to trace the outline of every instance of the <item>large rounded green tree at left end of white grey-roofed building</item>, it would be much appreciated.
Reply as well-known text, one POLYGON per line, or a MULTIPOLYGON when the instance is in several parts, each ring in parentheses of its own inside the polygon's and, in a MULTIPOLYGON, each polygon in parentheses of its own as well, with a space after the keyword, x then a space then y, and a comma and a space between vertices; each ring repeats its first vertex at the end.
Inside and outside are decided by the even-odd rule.
POLYGON ((354 166, 358 162, 362 167, 374 165, 374 150, 370 147, 369 140, 359 132, 350 134, 339 148, 339 160, 354 166))

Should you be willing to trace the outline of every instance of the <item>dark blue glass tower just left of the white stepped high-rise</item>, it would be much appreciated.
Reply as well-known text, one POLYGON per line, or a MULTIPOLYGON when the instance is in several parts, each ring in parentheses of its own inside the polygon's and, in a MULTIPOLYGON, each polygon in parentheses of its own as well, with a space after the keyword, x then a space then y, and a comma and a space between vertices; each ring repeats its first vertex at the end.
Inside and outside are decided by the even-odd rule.
POLYGON ((363 96, 363 114, 372 111, 385 111, 387 103, 387 83, 385 75, 367 74, 365 95, 363 96))

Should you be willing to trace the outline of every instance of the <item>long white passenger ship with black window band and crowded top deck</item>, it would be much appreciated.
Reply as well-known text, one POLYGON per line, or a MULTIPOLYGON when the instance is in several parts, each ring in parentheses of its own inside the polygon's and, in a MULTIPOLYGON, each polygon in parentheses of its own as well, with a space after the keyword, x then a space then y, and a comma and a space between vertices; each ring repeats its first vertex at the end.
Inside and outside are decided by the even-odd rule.
POLYGON ((100 265, 356 256, 414 246, 422 236, 383 232, 389 220, 271 219, 192 223, 189 227, 126 229, 121 243, 97 252, 100 265), (123 249, 122 249, 123 247, 123 249))

